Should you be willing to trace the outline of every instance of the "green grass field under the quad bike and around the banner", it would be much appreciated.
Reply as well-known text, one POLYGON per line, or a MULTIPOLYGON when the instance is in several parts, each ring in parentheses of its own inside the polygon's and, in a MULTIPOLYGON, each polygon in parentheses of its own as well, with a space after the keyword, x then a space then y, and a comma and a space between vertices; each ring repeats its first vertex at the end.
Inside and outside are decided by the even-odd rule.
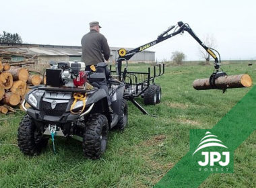
MULTIPOLYGON (((222 68, 228 75, 248 73, 256 81, 256 64, 247 64, 229 62, 222 68)), ((129 126, 124 132, 110 132, 100 160, 84 158, 82 144, 65 139, 56 140, 57 154, 49 142, 40 156, 24 156, 15 146, 20 114, 0 115, 0 187, 153 187, 189 151, 189 130, 212 128, 250 90, 222 94, 191 87, 193 80, 210 77, 212 69, 189 63, 166 67, 156 79, 162 102, 145 107, 158 118, 142 115, 129 103, 129 126)), ((255 142, 256 132, 236 149, 233 174, 211 175, 201 187, 255 187, 255 142)))

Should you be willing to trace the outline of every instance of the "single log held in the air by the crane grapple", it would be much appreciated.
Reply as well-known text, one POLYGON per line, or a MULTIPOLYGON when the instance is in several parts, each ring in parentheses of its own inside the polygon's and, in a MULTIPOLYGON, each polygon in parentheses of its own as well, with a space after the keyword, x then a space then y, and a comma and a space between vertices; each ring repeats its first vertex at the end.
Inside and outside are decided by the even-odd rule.
MULTIPOLYGON (((215 80, 218 89, 251 87, 253 81, 249 75, 232 75, 219 77, 215 80)), ((197 90, 215 89, 210 85, 210 79, 197 79, 193 82, 193 88, 197 90)))

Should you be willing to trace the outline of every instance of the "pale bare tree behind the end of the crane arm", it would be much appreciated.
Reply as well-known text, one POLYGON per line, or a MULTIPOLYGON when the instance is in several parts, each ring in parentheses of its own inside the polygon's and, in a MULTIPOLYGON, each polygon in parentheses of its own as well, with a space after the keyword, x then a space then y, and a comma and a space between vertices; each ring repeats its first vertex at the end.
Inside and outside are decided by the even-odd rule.
MULTIPOLYGON (((214 38, 213 35, 207 34, 206 37, 203 39, 203 44, 207 46, 208 48, 216 48, 216 39, 214 38)), ((207 64, 210 64, 210 59, 212 56, 208 54, 204 48, 199 46, 199 55, 201 58, 204 58, 207 64)))

